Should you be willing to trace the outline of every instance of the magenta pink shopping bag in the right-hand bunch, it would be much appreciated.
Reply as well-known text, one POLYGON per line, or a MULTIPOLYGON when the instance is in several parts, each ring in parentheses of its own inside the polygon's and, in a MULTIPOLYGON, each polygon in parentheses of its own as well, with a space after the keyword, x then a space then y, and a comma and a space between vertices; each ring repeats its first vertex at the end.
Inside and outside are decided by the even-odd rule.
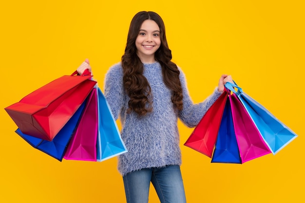
POLYGON ((235 93, 229 94, 229 101, 242 163, 271 153, 248 112, 235 93))

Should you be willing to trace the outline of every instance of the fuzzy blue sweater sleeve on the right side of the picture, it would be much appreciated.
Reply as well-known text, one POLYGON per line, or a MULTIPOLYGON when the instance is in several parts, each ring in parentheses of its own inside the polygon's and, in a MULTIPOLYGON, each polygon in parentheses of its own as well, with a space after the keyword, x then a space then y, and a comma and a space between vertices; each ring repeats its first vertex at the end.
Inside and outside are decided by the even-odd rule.
POLYGON ((215 88, 214 92, 203 102, 194 104, 188 92, 185 75, 180 68, 179 71, 179 77, 183 92, 183 109, 178 112, 178 116, 186 126, 193 128, 198 125, 203 115, 209 110, 209 108, 218 99, 221 93, 218 92, 217 88, 215 88))

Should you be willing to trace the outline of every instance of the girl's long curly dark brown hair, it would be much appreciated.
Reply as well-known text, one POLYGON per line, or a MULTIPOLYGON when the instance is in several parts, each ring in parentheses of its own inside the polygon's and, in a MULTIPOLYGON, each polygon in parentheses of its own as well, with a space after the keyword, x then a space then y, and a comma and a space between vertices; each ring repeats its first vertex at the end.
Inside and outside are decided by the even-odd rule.
POLYGON ((143 64, 136 54, 135 40, 139 34, 144 20, 151 19, 160 28, 161 45, 155 52, 155 60, 162 67, 164 84, 172 91, 172 103, 177 110, 182 110, 182 88, 179 79, 179 70, 173 63, 172 51, 168 47, 165 35, 165 26, 162 18, 152 11, 137 13, 130 24, 125 53, 122 56, 123 83, 125 91, 130 97, 128 113, 135 111, 139 115, 145 115, 152 111, 151 87, 143 75, 143 64))

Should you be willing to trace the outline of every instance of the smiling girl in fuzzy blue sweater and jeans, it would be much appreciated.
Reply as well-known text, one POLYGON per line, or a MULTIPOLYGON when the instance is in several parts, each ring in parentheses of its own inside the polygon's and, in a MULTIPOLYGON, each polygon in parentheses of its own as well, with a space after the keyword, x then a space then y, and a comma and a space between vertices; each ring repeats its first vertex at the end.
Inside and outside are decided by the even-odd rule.
MULTIPOLYGON (((150 182, 161 203, 185 203, 180 172, 177 119, 195 127, 224 90, 231 76, 222 75, 205 101, 193 104, 185 76, 171 61, 162 18, 137 13, 130 24, 125 54, 106 74, 105 97, 122 124, 128 149, 118 157, 127 203, 148 203, 150 182)), ((91 71, 89 61, 77 69, 91 71)))

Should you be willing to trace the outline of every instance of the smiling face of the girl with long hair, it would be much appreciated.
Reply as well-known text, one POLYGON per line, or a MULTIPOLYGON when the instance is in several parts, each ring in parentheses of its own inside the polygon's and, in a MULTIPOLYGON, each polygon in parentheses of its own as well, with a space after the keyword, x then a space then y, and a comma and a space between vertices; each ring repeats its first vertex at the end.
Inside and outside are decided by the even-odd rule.
POLYGON ((153 20, 145 20, 135 40, 136 54, 143 63, 154 62, 154 53, 161 44, 160 28, 153 20))

